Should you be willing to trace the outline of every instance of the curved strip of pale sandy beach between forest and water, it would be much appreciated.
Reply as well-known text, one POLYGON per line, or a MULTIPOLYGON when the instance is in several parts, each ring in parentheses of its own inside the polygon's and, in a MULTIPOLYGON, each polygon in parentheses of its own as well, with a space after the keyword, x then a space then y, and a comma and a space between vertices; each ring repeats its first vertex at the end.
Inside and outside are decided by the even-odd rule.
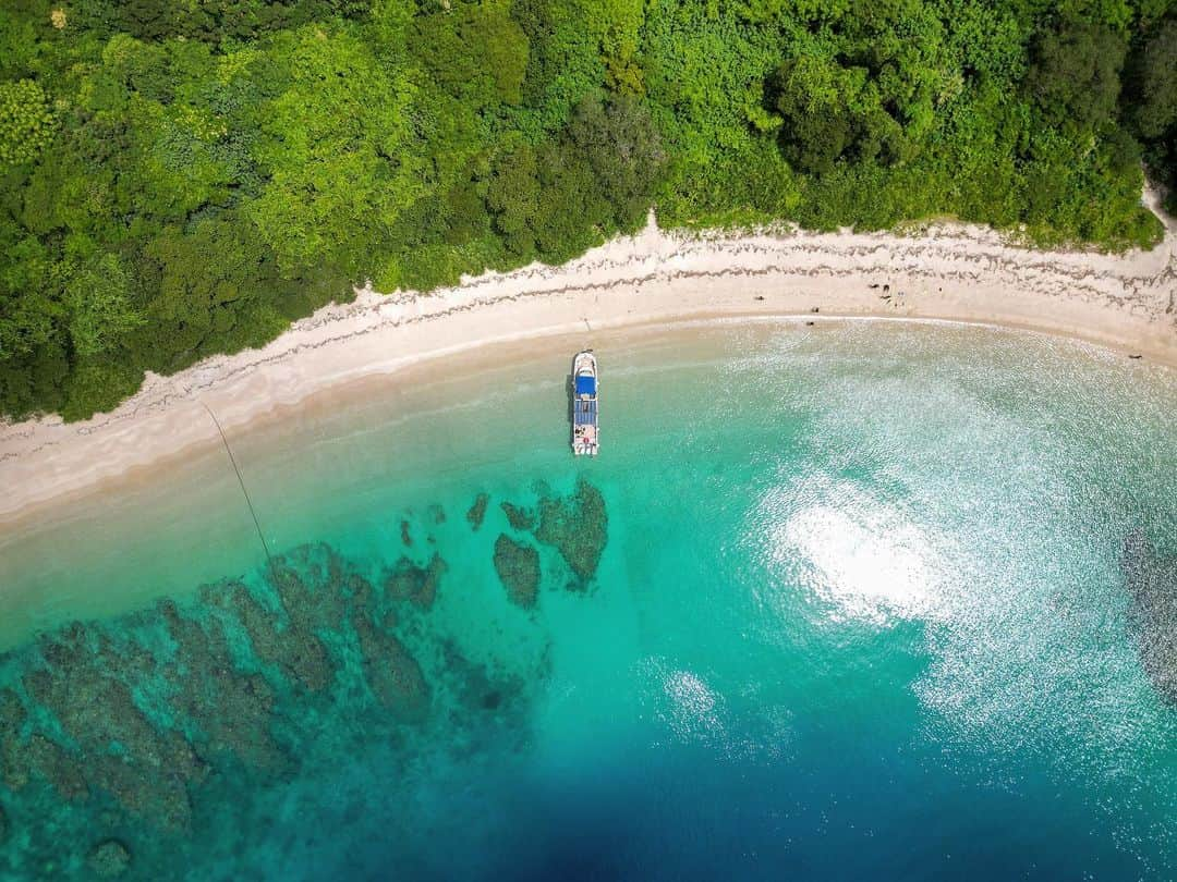
POLYGON ((591 346, 610 328, 684 319, 937 319, 1068 335, 1177 366, 1177 223, 1165 225, 1157 248, 1106 255, 1028 250, 963 225, 897 236, 689 235, 651 223, 560 267, 487 273, 427 295, 360 290, 262 349, 148 374, 112 413, 0 427, 0 524, 220 445, 210 410, 232 434, 359 377, 548 334, 583 330, 591 346))

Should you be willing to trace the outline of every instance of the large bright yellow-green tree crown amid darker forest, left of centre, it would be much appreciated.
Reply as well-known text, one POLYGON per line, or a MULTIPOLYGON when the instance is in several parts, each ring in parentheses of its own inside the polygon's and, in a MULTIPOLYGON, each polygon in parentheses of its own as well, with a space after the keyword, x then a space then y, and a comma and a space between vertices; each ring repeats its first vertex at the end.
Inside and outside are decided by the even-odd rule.
POLYGON ((273 55, 286 83, 259 108, 253 155, 270 180, 246 214, 288 275, 324 261, 371 272, 390 225, 421 193, 408 76, 345 28, 284 34, 273 55))

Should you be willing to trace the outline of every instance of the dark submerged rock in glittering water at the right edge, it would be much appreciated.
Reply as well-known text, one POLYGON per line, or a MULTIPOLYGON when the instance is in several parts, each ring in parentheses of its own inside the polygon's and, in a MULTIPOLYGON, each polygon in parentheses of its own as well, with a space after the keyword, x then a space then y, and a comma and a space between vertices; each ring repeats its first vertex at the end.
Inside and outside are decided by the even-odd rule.
POLYGON ((1122 567, 1141 664, 1161 696, 1177 704, 1177 557, 1162 557, 1133 530, 1124 540, 1122 567))

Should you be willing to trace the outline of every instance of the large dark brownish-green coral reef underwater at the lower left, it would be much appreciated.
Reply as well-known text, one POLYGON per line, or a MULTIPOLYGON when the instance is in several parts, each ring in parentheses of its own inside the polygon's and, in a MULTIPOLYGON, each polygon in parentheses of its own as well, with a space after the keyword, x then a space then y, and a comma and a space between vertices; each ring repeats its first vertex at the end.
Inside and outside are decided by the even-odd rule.
MULTIPOLYGON (((533 604, 538 552, 501 540, 496 568, 533 604)), ((327 750, 418 749, 443 726, 472 750, 479 727, 514 726, 524 680, 432 630, 446 570, 437 553, 361 569, 307 544, 248 581, 74 622, 0 657, 0 877, 166 875, 224 823, 217 800, 304 774, 325 720, 327 750), (27 835, 12 836, 11 817, 27 835)))

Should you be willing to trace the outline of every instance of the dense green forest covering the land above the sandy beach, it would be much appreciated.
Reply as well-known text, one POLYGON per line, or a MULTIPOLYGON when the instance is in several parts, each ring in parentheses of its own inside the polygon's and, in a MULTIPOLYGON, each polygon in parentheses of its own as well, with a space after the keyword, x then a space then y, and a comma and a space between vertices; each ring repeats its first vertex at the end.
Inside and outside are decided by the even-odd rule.
POLYGON ((0 413, 663 226, 1149 246, 1177 0, 0 0, 0 413))

